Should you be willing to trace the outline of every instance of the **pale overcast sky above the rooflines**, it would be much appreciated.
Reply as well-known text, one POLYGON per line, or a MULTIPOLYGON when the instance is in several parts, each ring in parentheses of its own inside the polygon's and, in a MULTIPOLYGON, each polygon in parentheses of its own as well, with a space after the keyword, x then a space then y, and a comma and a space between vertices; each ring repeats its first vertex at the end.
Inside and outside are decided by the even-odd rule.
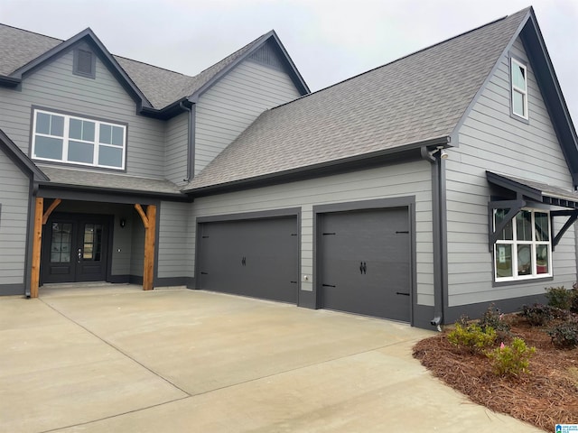
POLYGON ((113 54, 187 75, 274 29, 314 91, 529 5, 578 124, 578 0, 0 0, 0 22, 90 27, 113 54))

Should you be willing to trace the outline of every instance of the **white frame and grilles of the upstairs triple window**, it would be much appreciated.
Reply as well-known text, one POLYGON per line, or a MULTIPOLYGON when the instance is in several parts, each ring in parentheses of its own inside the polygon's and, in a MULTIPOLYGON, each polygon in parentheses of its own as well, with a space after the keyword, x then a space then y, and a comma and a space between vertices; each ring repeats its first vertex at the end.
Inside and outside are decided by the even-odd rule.
POLYGON ((88 117, 80 117, 78 115, 66 115, 66 114, 58 113, 58 112, 51 112, 51 111, 42 110, 42 109, 34 109, 34 112, 33 112, 32 157, 34 160, 38 160, 38 161, 64 162, 67 164, 84 165, 84 166, 88 166, 88 167, 98 167, 98 168, 113 169, 113 170, 125 170, 125 166, 126 166, 126 124, 115 124, 115 123, 107 122, 107 121, 103 121, 103 120, 96 120, 96 119, 91 119, 88 117), (43 113, 46 115, 59 115, 61 117, 64 117, 63 136, 37 133, 36 132, 36 120, 38 118, 39 113, 43 113), (77 119, 77 120, 87 121, 87 122, 91 122, 91 123, 95 124, 94 142, 88 142, 86 140, 80 140, 80 139, 76 139, 76 138, 72 139, 73 142, 90 143, 90 144, 94 145, 94 153, 93 153, 93 159, 92 159, 92 161, 94 161, 93 163, 79 162, 79 161, 68 161, 69 142, 70 142, 70 137, 69 137, 70 119, 77 119), (123 145, 122 145, 122 160, 121 160, 122 163, 121 163, 120 167, 117 167, 114 165, 98 164, 98 152, 100 150, 100 147, 113 147, 116 149, 119 148, 119 146, 116 146, 114 144, 99 143, 100 125, 101 124, 117 126, 119 128, 122 128, 122 130, 123 130, 123 145), (57 159, 43 158, 43 157, 36 156, 36 136, 37 135, 44 136, 44 137, 62 139, 62 158, 60 160, 57 160, 57 159))

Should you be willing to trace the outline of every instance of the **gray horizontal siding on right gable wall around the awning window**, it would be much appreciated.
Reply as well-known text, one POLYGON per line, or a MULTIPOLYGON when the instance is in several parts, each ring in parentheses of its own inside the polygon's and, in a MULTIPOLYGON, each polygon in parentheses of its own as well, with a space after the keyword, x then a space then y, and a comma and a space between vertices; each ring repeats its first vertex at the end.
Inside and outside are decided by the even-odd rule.
MULTIPOLYGON (((512 53, 518 59, 527 60, 520 41, 516 41, 512 53)), ((450 306, 542 294, 546 285, 570 286, 576 276, 572 228, 555 249, 554 281, 492 285, 486 170, 572 189, 570 172, 531 65, 528 66, 529 124, 510 116, 509 86, 509 60, 503 57, 461 126, 459 147, 448 152, 450 306)), ((563 224, 564 220, 556 220, 555 230, 563 224)))

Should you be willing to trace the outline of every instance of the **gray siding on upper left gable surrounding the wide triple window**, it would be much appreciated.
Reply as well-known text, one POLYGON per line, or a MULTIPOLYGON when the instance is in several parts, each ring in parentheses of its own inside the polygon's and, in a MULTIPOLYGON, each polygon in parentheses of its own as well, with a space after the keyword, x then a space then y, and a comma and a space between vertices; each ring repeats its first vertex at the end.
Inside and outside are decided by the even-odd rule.
POLYGON ((162 178, 164 124, 136 115, 135 102, 98 60, 96 78, 72 74, 72 51, 23 79, 22 91, 0 88, 0 128, 29 154, 31 106, 128 124, 128 174, 162 178))

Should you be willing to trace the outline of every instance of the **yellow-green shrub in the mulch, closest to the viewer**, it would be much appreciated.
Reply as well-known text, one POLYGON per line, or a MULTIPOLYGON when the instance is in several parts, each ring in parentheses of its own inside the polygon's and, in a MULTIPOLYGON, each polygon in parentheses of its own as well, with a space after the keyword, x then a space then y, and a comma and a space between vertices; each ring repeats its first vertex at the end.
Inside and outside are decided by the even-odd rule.
POLYGON ((536 353, 536 347, 528 347, 519 337, 512 339, 511 345, 503 343, 494 350, 486 353, 492 364, 494 373, 499 376, 519 376, 529 373, 530 357, 536 353))

